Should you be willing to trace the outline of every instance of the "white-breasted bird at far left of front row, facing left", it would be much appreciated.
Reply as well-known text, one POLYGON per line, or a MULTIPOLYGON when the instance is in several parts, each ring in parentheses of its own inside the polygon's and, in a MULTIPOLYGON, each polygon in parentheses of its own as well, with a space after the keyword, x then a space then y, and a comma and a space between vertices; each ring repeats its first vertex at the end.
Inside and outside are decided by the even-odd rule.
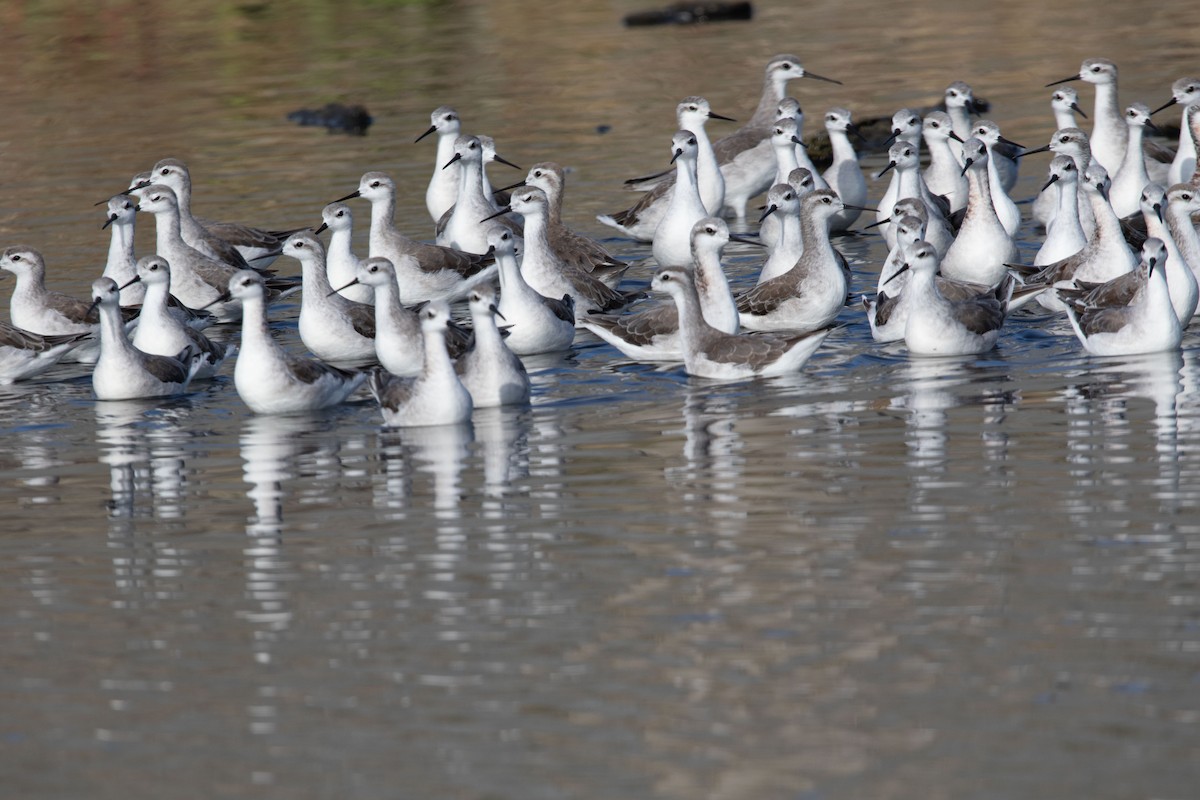
POLYGON ((187 391, 202 356, 185 348, 175 357, 150 355, 134 348, 121 320, 120 291, 112 278, 91 284, 92 305, 100 311, 100 359, 91 386, 102 401, 169 397, 187 391))

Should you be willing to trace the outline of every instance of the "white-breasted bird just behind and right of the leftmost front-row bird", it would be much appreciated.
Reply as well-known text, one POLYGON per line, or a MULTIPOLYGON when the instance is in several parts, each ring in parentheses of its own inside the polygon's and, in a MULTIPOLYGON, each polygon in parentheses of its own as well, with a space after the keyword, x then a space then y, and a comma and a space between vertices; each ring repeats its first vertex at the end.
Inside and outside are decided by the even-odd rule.
MULTIPOLYGON (((238 351, 235 345, 212 342, 204 333, 185 325, 167 307, 170 294, 170 265, 161 255, 145 255, 138 260, 137 272, 130 279, 144 287, 145 299, 138 326, 133 331, 133 347, 150 355, 178 356, 191 350, 199 356, 193 379, 211 378, 221 363, 238 351)), ((124 294, 126 287, 120 287, 124 294)))

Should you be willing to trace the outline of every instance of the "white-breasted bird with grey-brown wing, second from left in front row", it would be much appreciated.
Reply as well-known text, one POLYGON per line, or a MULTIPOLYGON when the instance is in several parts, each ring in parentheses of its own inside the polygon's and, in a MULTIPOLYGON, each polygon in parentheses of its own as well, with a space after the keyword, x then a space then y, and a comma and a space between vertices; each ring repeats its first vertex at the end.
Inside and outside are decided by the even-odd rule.
POLYGON ((229 281, 228 296, 242 305, 241 349, 233 380, 238 396, 256 414, 300 414, 337 405, 359 387, 366 373, 331 367, 287 353, 266 321, 266 285, 253 270, 229 281))

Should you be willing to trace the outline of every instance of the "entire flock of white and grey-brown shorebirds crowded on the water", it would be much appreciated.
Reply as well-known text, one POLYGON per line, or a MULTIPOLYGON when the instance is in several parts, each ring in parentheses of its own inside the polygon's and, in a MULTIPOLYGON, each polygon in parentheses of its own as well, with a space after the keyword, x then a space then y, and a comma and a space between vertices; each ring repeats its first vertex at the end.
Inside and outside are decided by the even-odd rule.
MULTIPOLYGON (((650 288, 668 300, 641 302, 623 291, 629 264, 563 224, 564 170, 535 164, 511 194, 494 191, 485 166, 494 143, 462 134, 457 113, 431 115, 437 162, 426 192, 436 243, 396 227, 396 186, 384 173, 325 206, 310 230, 259 230, 200 222, 191 211, 191 176, 166 158, 108 200, 112 228, 103 277, 90 302, 49 291, 42 255, 8 247, 0 269, 17 276, 12 324, 0 324, 0 381, 41 373, 62 360, 94 365, 100 399, 169 396, 209 378, 234 357, 241 399, 260 414, 325 408, 366 383, 385 423, 462 422, 473 408, 526 403, 529 379, 520 356, 569 349, 578 329, 628 357, 683 362, 689 374, 744 379, 796 372, 836 326, 850 299, 851 271, 830 234, 880 228, 889 247, 877 294, 863 299, 871 333, 902 339, 914 355, 968 355, 995 347, 1008 313, 1027 302, 1067 314, 1091 353, 1134 354, 1178 348, 1198 305, 1200 236, 1200 79, 1181 78, 1159 109, 1122 113, 1117 70, 1087 59, 1078 74, 1096 89, 1091 134, 1073 89, 1056 89, 1056 132, 1044 148, 1022 149, 995 122, 972 119, 974 97, 949 85, 944 110, 901 109, 892 118, 890 184, 876 207, 844 108, 824 128, 832 164, 820 170, 803 138, 804 114, 786 97, 790 80, 810 78, 793 55, 767 65, 762 98, 737 132, 710 142, 714 114, 703 97, 677 107, 672 169, 626 181, 642 191, 631 207, 599 217, 649 242, 650 288), (1151 115, 1184 107, 1178 146, 1144 137, 1151 115), (925 166, 922 143, 928 150, 925 166), (1031 265, 1014 241, 1020 209, 1009 197, 1020 158, 1051 150, 1048 180, 1032 206, 1045 239, 1031 265), (1164 188, 1164 186, 1169 188, 1164 188), (745 222, 766 192, 760 241, 766 259, 757 285, 734 296, 721 254, 725 217, 745 222), (370 255, 350 247, 352 207, 371 205, 370 255), (137 211, 152 213, 155 254, 137 259, 137 211), (325 245, 318 234, 330 231, 325 245), (1135 254, 1140 248, 1140 258, 1135 254), (268 270, 278 255, 300 263, 300 279, 268 270), (302 290, 299 333, 314 357, 281 348, 268 309, 302 290), (470 327, 451 319, 466 301, 470 327), (636 305, 632 305, 635 303, 636 305), (631 306, 631 308, 626 308, 631 306), (238 345, 211 342, 202 329, 241 323, 238 345)), ((512 166, 512 164, 510 164, 512 166)))

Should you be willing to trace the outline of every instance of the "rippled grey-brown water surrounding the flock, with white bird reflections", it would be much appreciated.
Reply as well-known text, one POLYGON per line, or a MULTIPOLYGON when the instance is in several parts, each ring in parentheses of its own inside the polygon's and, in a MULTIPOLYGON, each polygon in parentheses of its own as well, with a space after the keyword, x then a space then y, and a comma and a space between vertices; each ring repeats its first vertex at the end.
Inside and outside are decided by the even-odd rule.
MULTIPOLYGON (((1026 144, 1082 58, 1153 106, 1198 67, 1193 4, 966 5, 648 30, 632 2, 16 5, 0 235, 82 294, 91 204, 175 155, 198 211, 272 225, 384 169, 428 236, 412 139, 452 103, 566 164, 601 236, 674 103, 745 118, 774 53, 845 82, 792 85, 810 119, 965 79, 1026 144), (330 101, 370 136, 284 120, 330 101)), ((880 241, 839 246, 872 287, 880 241)), ((1195 796, 1196 335, 1088 359, 1026 315, 984 357, 908 360, 844 320, 803 374, 732 385, 581 336, 529 361, 532 408, 448 429, 370 399, 253 417, 228 371, 168 403, 97 403, 70 367, 2 390, 5 796, 1195 796)))

